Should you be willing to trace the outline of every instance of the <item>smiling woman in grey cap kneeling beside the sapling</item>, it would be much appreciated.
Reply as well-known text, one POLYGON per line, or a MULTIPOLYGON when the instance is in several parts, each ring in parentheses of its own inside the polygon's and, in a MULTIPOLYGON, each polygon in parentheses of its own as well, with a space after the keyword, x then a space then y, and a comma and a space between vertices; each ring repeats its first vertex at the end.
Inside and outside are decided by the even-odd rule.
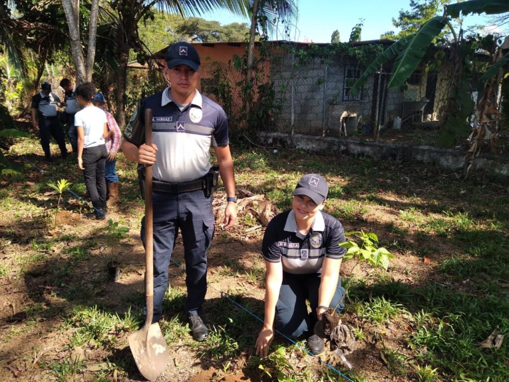
POLYGON ((345 241, 345 231, 334 216, 322 212, 328 190, 322 176, 304 175, 293 193, 292 209, 267 226, 262 242, 265 319, 256 342, 260 356, 267 356, 274 327, 289 337, 307 334, 307 347, 321 353, 324 343, 313 333, 315 324, 329 307, 343 309, 340 266, 346 250, 338 244, 345 241))

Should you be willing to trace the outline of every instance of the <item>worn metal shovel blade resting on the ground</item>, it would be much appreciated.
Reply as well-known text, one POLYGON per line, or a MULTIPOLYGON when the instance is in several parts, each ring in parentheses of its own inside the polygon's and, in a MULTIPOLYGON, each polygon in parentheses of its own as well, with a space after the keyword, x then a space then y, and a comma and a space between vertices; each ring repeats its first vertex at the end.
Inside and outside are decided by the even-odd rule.
POLYGON ((128 338, 134 362, 142 375, 154 380, 168 364, 168 349, 159 324, 153 323, 148 330, 141 329, 128 338))

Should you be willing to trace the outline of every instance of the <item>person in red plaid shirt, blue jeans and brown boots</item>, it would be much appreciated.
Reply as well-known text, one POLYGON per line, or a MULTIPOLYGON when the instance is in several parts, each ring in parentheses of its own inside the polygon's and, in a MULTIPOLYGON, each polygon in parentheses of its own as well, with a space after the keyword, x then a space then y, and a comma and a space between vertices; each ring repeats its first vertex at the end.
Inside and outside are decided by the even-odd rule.
POLYGON ((122 133, 120 132, 119 125, 115 120, 115 117, 108 111, 104 110, 104 96, 102 93, 97 93, 93 100, 94 106, 99 107, 106 113, 106 120, 108 121, 108 131, 110 132, 108 138, 106 138, 106 149, 108 150, 108 157, 106 159, 106 166, 104 168, 104 177, 106 178, 108 200, 106 203, 112 205, 120 203, 119 197, 119 177, 115 169, 115 163, 117 162, 117 152, 120 147, 122 140, 122 133))

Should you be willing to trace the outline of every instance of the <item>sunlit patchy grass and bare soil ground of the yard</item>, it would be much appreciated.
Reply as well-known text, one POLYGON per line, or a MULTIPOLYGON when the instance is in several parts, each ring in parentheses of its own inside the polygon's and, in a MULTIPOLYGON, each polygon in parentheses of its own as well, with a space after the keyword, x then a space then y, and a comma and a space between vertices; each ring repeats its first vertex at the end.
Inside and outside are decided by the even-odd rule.
MULTIPOLYGON (((30 139, 10 154, 86 195, 73 158, 47 165, 30 139)), ((352 273, 353 264, 344 263, 351 287, 342 319, 359 346, 347 356, 353 370, 333 352, 324 361, 356 381, 509 380, 507 340, 500 349, 479 345, 496 328, 509 331, 507 187, 366 158, 262 149, 234 150, 234 158, 238 186, 280 209, 289 207, 303 173, 321 173, 330 186, 326 211, 347 231, 375 232, 395 255, 386 272, 361 266, 352 273)), ((143 380, 126 347, 143 320, 144 298, 134 166, 120 155, 123 203, 109 216, 118 225, 86 219, 86 206, 69 194, 55 225, 58 195, 47 194, 48 178, 24 167, 0 184, 0 380, 143 380), (110 260, 120 263, 118 282, 108 280, 110 260)), ((190 337, 184 272, 171 265, 161 320, 170 360, 161 381, 341 380, 280 337, 268 359, 253 356, 261 323, 220 292, 262 316, 263 229, 247 231, 256 225, 245 211, 231 232, 216 230, 205 306, 213 331, 205 343, 190 337)), ((183 262, 181 239, 174 258, 183 262)))

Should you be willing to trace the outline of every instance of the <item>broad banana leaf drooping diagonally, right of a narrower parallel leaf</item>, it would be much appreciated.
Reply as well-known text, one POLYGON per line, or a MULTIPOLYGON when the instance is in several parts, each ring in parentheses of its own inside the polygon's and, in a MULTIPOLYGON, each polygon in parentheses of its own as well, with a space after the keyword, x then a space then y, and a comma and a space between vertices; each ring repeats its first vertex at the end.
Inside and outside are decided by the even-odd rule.
POLYGON ((426 54, 431 42, 444 28, 447 19, 435 16, 420 27, 414 37, 408 42, 406 48, 400 52, 392 69, 387 88, 399 88, 410 77, 426 54))

